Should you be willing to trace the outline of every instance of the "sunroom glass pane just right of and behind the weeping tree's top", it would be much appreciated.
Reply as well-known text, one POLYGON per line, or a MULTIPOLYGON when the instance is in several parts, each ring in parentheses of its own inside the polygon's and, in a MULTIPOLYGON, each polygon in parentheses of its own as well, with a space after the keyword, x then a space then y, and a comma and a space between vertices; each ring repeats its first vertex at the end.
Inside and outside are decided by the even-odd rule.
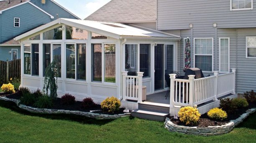
POLYGON ((53 44, 53 61, 59 68, 58 78, 61 78, 61 44, 53 44))

